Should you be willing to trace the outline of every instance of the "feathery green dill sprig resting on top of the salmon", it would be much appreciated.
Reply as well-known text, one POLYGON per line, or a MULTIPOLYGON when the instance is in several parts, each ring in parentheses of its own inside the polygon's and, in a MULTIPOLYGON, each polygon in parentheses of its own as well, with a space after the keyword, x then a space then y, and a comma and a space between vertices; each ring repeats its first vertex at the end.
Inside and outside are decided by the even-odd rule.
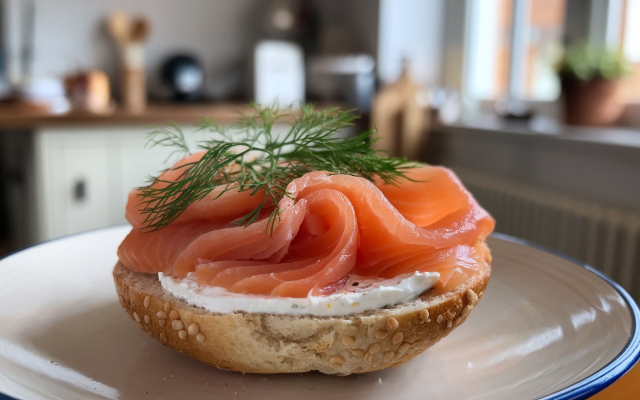
MULTIPOLYGON (((340 129, 353 125, 358 118, 353 110, 337 108, 317 111, 312 104, 298 111, 273 106, 253 105, 253 112, 239 115, 237 122, 217 124, 205 118, 200 130, 211 138, 198 141, 196 148, 204 155, 194 163, 180 166, 179 178, 164 181, 152 177, 140 190, 145 215, 144 230, 159 230, 172 223, 193 202, 221 188, 216 198, 227 191, 250 191, 263 196, 262 202, 232 225, 250 225, 273 208, 268 230, 273 230, 281 210, 278 203, 287 193, 292 179, 312 171, 345 173, 374 180, 380 177, 389 184, 405 178, 404 170, 415 164, 404 158, 381 157, 371 145, 376 139, 369 130, 342 139, 340 129), (287 124, 288 131, 278 134, 275 124, 287 124), (265 209, 265 207, 267 207, 265 209)), ((150 146, 174 147, 184 156, 191 148, 177 125, 173 130, 159 128, 149 134, 150 146)), ((161 175, 160 175, 161 176, 161 175)))

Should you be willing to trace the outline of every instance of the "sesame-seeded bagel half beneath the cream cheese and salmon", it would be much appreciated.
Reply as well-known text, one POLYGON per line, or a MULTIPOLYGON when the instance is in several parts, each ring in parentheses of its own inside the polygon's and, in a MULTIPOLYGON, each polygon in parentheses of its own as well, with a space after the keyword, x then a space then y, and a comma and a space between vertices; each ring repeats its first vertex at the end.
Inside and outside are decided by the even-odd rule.
POLYGON ((164 345, 220 369, 271 374, 348 375, 397 367, 465 321, 482 296, 487 268, 449 292, 339 317, 212 313, 163 291, 157 275, 113 269, 118 298, 140 329, 164 345))

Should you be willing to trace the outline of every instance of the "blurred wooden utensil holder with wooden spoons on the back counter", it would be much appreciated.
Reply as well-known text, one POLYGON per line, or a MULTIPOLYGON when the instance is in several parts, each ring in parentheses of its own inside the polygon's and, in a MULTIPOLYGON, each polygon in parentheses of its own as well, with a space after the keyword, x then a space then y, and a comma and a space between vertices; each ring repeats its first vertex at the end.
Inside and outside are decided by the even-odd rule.
POLYGON ((108 23, 122 57, 122 106, 129 113, 141 113, 147 107, 145 42, 149 23, 144 18, 131 21, 122 12, 111 14, 108 23))

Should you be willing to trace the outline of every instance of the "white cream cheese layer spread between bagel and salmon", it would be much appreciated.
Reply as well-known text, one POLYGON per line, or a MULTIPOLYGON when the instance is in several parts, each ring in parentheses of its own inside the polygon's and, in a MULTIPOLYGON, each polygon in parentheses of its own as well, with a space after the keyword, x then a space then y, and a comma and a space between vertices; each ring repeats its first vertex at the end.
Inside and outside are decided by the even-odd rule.
POLYGON ((349 275, 339 291, 306 298, 257 296, 229 292, 223 287, 201 287, 193 273, 177 280, 158 273, 164 291, 211 312, 264 312, 312 316, 346 316, 413 300, 438 281, 437 272, 415 272, 389 279, 349 275))

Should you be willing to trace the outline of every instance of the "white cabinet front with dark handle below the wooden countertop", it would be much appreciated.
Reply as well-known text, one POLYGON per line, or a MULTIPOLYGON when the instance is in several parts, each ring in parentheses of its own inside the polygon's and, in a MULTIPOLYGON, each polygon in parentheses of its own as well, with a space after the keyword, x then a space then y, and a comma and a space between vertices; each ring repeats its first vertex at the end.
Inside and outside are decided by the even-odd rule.
POLYGON ((134 126, 36 130, 33 241, 123 223, 129 191, 175 161, 169 159, 170 148, 145 148, 148 131, 134 126))

